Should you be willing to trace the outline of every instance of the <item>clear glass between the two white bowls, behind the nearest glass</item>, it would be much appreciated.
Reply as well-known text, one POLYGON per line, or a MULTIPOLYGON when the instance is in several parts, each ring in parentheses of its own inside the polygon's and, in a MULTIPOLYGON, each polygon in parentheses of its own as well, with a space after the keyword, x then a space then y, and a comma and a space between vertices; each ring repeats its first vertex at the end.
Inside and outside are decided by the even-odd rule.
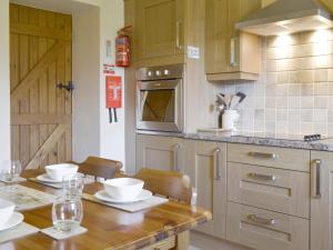
POLYGON ((83 187, 82 174, 68 174, 62 178, 63 196, 67 199, 81 199, 83 187))

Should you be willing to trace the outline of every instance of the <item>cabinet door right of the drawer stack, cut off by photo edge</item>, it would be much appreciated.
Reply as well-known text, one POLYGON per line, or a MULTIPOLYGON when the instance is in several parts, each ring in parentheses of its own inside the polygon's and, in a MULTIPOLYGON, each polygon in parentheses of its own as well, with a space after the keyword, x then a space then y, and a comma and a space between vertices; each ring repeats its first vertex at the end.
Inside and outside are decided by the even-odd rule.
POLYGON ((333 249, 333 153, 311 152, 311 250, 333 249))

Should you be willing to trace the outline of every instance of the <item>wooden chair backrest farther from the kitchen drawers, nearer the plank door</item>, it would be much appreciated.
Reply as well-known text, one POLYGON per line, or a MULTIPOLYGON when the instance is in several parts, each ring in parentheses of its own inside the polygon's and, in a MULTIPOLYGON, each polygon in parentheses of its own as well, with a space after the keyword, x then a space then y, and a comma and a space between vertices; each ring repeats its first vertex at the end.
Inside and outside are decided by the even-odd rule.
POLYGON ((99 157, 89 157, 82 163, 77 164, 79 166, 79 172, 104 179, 114 178, 114 176, 120 172, 122 168, 121 161, 114 161, 99 157))

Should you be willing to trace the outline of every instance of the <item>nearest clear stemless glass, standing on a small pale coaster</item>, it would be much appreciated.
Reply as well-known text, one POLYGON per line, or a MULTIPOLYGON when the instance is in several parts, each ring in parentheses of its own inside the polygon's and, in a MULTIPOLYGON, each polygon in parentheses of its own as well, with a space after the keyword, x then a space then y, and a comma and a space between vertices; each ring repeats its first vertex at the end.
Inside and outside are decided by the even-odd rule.
POLYGON ((58 198, 52 207, 53 227, 60 232, 71 232, 82 222, 83 207, 81 199, 58 198))

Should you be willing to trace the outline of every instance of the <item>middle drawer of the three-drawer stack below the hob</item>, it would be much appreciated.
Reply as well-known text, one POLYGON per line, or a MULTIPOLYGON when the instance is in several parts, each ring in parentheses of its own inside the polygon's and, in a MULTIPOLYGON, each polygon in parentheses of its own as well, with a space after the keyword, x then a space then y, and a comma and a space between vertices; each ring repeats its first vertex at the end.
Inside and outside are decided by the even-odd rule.
POLYGON ((228 200, 310 217, 310 173, 228 162, 228 200))

